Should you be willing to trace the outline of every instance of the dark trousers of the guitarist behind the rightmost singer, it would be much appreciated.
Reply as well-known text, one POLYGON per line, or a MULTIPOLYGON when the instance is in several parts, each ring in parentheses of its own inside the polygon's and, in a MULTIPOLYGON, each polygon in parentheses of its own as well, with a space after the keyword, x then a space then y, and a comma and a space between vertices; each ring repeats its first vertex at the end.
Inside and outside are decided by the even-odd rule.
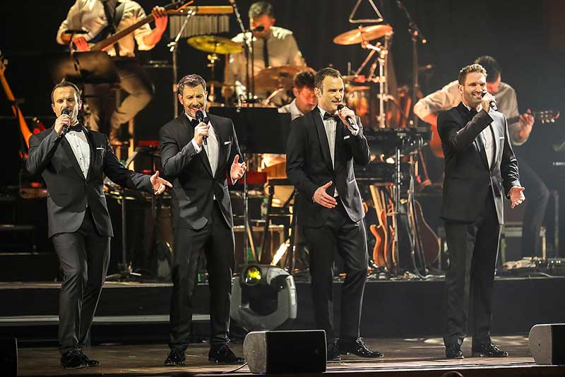
POLYGON ((526 198, 523 204, 525 210, 522 221, 522 256, 542 256, 541 244, 537 240, 549 201, 549 190, 540 176, 522 157, 518 157, 518 166, 526 198))

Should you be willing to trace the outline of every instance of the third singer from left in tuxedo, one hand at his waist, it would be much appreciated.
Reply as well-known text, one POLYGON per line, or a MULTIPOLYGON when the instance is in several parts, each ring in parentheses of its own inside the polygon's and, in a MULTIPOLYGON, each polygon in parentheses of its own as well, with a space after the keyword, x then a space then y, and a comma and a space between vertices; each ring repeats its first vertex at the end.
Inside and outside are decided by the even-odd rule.
POLYGON ((297 188, 299 222, 310 250, 316 325, 326 330, 328 360, 340 353, 381 357, 359 337, 367 280, 364 210, 353 164, 369 163, 369 145, 359 116, 343 107, 343 78, 333 68, 316 73, 318 106, 292 121, 287 142, 287 175, 297 188), (339 342, 333 330, 333 261, 337 251, 347 277, 343 283, 339 342))

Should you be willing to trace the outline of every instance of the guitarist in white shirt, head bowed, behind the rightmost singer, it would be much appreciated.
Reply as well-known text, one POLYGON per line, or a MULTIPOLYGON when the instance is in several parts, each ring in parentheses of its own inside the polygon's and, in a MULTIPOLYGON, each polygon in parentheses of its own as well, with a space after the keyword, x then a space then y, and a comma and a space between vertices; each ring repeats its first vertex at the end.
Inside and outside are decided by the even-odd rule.
MULTIPOLYGON (((501 81, 501 69, 496 59, 492 56, 480 56, 475 59, 475 63, 487 70, 487 91, 496 95, 496 106, 499 112, 503 113, 506 119, 519 119, 508 124, 511 144, 514 147, 523 145, 532 131, 534 117, 529 114, 529 110, 525 114, 518 112, 516 91, 509 84, 501 81)), ((455 80, 418 101, 414 105, 414 113, 435 128, 438 114, 451 107, 456 107, 459 102, 461 102, 461 97, 458 92, 458 82, 455 80)), ((522 256, 542 256, 537 235, 540 234, 540 227, 545 216, 549 190, 540 176, 520 155, 519 150, 520 148, 515 149, 520 166, 520 180, 523 186, 528 188, 528 201, 524 202, 521 253, 522 256)))

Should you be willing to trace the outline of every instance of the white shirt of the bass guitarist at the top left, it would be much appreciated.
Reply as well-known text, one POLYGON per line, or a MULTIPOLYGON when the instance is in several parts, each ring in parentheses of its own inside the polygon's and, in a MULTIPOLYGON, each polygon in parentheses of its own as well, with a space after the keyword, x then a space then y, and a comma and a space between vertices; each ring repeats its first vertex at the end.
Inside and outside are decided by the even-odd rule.
MULTIPOLYGON (((124 13, 116 28, 116 32, 120 32, 129 26, 137 23, 142 18, 145 18, 145 11, 139 4, 131 0, 117 0, 117 4, 124 3, 124 13)), ((104 12, 104 5, 100 0, 76 0, 75 4, 69 9, 66 19, 59 26, 57 31, 57 43, 65 44, 61 39, 61 35, 65 30, 80 30, 88 31, 88 34, 83 35, 88 42, 92 40, 102 29, 108 25, 106 20, 106 13, 104 12)), ((155 45, 145 44, 143 37, 151 32, 148 23, 139 27, 134 32, 119 40, 119 54, 121 56, 135 56, 136 42, 138 49, 148 50, 153 49, 155 45)), ((108 35, 109 36, 109 35, 108 35)), ((107 49, 107 53, 114 56, 116 53, 113 48, 107 49)))

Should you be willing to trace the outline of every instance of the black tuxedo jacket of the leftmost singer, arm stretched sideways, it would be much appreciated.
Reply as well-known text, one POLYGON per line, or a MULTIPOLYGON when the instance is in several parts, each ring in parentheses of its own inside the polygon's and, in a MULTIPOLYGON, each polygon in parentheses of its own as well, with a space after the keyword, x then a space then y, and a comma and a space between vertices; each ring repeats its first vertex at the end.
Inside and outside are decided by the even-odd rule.
POLYGON ((76 232, 83 223, 87 203, 100 235, 114 236, 103 191, 104 174, 121 186, 153 193, 150 177, 120 164, 107 136, 85 128, 83 132, 90 145, 90 167, 86 178, 71 145, 64 136, 58 136, 54 128, 30 138, 25 167, 30 174, 41 174, 47 184, 49 237, 76 232))

